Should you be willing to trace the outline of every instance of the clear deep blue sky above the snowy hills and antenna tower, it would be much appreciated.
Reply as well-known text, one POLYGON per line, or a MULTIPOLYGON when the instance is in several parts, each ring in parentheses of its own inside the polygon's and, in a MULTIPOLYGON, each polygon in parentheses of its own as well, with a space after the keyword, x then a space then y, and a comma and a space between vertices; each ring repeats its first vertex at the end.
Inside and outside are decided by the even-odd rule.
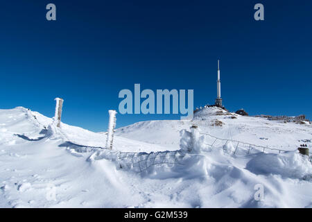
MULTIPOLYGON (((107 129, 121 89, 194 89, 214 103, 221 60, 225 107, 312 119, 312 1, 2 1, 0 108, 24 106, 107 129), (46 21, 55 3, 57 21, 46 21), (265 21, 253 19, 263 3, 265 21)), ((179 115, 117 115, 117 127, 179 115)))

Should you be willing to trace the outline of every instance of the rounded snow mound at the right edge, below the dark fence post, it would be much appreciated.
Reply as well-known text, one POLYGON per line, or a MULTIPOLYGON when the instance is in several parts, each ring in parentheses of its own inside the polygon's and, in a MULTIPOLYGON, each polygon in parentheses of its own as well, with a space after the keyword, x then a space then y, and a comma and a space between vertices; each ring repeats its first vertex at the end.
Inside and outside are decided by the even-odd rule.
POLYGON ((312 164, 309 157, 297 151, 283 154, 259 154, 252 158, 246 169, 257 174, 279 174, 286 178, 304 178, 312 176, 312 164))

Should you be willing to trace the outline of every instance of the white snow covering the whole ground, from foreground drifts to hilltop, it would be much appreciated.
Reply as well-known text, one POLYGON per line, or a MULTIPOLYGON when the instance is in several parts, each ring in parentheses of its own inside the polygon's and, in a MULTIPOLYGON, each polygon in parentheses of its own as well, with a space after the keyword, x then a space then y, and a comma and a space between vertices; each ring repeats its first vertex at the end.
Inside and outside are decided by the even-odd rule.
POLYGON ((297 151, 309 123, 204 108, 191 121, 119 128, 112 151, 104 133, 52 123, 0 110, 0 207, 312 207, 311 162, 297 151))

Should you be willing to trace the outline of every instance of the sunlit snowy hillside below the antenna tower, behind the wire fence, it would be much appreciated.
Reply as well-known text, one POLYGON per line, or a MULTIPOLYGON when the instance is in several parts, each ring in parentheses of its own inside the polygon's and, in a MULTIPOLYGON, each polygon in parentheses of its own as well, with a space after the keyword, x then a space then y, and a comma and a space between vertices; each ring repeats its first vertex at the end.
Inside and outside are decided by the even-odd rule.
MULTIPOLYGON (((179 148, 182 129, 197 125, 203 133, 221 139, 233 139, 259 146, 293 151, 312 139, 312 125, 270 121, 260 117, 243 117, 220 108, 203 108, 194 114, 192 121, 144 121, 116 130, 116 135, 142 142, 179 148), (222 126, 219 126, 222 125, 222 126)), ((311 143, 308 143, 311 146, 311 143)))

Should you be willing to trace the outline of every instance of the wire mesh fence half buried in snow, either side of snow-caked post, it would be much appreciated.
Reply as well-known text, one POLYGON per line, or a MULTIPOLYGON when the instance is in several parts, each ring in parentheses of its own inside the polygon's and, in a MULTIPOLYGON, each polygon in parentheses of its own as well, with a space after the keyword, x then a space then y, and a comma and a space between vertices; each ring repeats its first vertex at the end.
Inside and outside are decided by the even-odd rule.
MULTIPOLYGON (((257 146, 246 142, 240 142, 232 139, 221 139, 214 137, 207 133, 200 133, 205 135, 205 146, 208 148, 206 151, 211 151, 216 147, 222 147, 224 151, 236 156, 254 155, 258 153, 275 153, 281 154, 287 152, 277 148, 270 148, 266 146, 257 146)), ((89 159, 90 160, 111 160, 115 162, 116 167, 123 170, 135 171, 141 173, 159 164, 165 164, 168 167, 174 167, 177 164, 183 164, 182 158, 184 151, 161 151, 151 153, 136 153, 136 152, 123 152, 116 150, 109 150, 106 148, 88 147, 72 143, 64 143, 63 146, 74 148, 78 153, 95 151, 89 159)), ((205 151, 205 148, 203 148, 205 151)), ((311 155, 312 153, 310 153, 311 155)), ((312 155, 309 157, 312 161, 312 155)))

